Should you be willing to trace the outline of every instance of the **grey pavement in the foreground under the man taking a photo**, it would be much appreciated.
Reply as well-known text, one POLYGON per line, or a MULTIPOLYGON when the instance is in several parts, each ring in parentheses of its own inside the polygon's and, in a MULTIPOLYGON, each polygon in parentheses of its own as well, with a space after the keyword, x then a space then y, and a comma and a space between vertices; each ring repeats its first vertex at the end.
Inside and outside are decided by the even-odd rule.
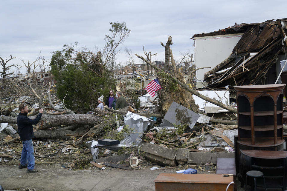
MULTIPOLYGON (((175 170, 67 170, 60 165, 36 165, 37 173, 28 173, 18 166, 0 167, 0 185, 5 190, 23 190, 27 187, 36 191, 89 191, 89 190, 155 190, 155 178, 160 173, 175 173, 175 170)), ((242 189, 239 189, 242 190, 242 189)))

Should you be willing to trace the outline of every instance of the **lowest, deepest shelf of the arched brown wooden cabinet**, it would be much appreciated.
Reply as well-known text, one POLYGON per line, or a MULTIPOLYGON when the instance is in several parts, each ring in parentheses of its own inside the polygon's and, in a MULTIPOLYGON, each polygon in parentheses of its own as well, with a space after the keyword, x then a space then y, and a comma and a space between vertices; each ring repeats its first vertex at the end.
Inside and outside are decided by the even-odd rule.
POLYGON ((274 144, 274 138, 255 138, 255 144, 251 143, 251 138, 241 138, 239 144, 249 147, 276 147, 284 143, 284 139, 277 139, 277 144, 274 144))

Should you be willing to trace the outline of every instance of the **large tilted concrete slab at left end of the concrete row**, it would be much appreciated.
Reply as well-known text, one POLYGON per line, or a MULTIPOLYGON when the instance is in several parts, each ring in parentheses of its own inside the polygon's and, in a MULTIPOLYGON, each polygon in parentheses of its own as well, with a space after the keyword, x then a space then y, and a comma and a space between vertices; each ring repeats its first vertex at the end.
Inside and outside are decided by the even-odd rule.
POLYGON ((175 150, 146 142, 141 142, 138 146, 141 146, 140 149, 144 152, 144 157, 149 161, 159 165, 177 166, 175 150))

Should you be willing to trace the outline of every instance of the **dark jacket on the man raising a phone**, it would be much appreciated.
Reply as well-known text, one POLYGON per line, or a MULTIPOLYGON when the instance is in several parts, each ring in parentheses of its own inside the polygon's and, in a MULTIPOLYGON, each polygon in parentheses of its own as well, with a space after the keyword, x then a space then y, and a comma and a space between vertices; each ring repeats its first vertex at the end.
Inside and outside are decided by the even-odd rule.
POLYGON ((42 113, 39 113, 35 119, 28 118, 27 113, 19 113, 17 117, 17 124, 20 139, 22 141, 34 138, 34 131, 32 125, 36 125, 41 117, 42 113))

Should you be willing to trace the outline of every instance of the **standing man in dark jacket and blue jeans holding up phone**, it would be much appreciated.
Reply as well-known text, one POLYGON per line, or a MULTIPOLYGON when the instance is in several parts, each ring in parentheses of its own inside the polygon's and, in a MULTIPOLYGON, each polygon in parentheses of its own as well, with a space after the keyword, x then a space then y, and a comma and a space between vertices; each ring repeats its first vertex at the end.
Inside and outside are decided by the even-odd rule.
POLYGON ((18 132, 20 135, 20 139, 23 142, 23 149, 19 169, 27 167, 27 172, 38 172, 38 170, 34 170, 35 157, 34 157, 34 147, 32 141, 32 138, 34 138, 34 131, 32 125, 36 125, 39 122, 40 118, 42 117, 43 108, 39 110, 39 114, 33 120, 27 117, 28 114, 27 104, 20 104, 18 109, 20 110, 20 113, 18 114, 17 117, 18 132))

